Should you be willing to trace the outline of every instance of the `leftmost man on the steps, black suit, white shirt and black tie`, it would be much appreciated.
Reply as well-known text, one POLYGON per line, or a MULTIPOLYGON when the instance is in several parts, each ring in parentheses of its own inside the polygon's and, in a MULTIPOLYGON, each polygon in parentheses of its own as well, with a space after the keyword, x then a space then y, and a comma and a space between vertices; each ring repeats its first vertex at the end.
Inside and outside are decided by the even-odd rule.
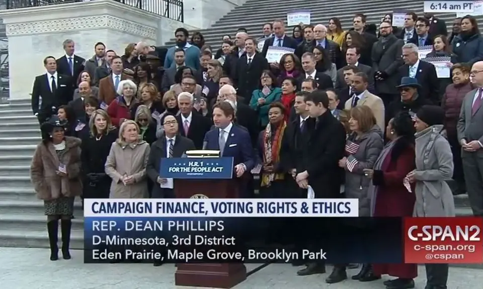
POLYGON ((47 72, 35 77, 32 88, 32 111, 40 124, 57 113, 58 107, 68 104, 73 93, 72 77, 57 72, 55 57, 45 57, 44 67, 47 72))

